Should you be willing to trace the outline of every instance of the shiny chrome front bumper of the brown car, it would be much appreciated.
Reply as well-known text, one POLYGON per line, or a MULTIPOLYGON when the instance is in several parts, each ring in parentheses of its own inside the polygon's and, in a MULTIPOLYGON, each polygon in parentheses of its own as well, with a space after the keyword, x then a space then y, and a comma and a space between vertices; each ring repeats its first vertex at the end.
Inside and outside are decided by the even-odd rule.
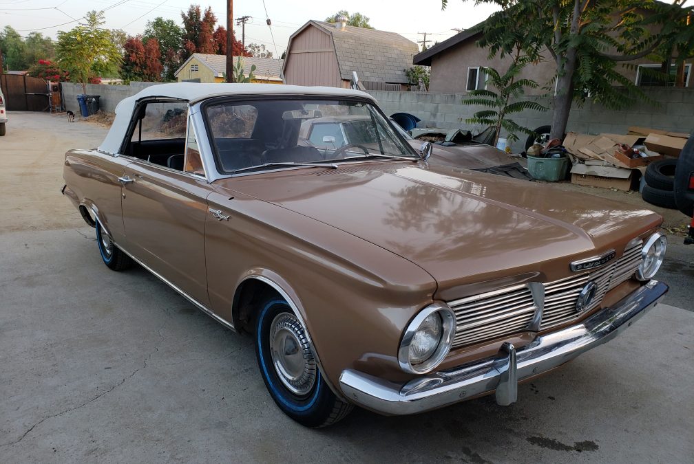
POLYGON ((491 391, 496 391, 498 404, 508 405, 516 401, 518 381, 550 371, 613 339, 666 292, 667 285, 651 280, 580 324, 537 337, 518 350, 504 343, 498 357, 418 377, 404 385, 346 369, 340 375, 340 388, 355 404, 388 415, 429 411, 491 391))

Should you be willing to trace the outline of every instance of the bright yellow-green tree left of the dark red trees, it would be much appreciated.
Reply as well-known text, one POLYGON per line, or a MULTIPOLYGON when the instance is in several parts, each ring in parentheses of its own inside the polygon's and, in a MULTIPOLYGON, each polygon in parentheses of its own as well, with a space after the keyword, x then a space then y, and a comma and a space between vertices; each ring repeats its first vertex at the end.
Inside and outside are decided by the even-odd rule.
POLYGON ((121 54, 115 38, 104 24, 103 12, 90 11, 85 16, 87 24, 80 24, 67 33, 58 32, 58 64, 70 73, 73 82, 82 84, 87 92, 90 77, 115 72, 121 62, 121 54))

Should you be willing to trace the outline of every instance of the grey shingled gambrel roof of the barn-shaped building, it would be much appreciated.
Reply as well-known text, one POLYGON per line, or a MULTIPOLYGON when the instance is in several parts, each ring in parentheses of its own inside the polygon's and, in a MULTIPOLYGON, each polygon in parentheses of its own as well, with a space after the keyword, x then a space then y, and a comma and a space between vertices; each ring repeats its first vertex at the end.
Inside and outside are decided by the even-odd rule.
POLYGON ((291 50, 294 37, 307 27, 319 28, 332 37, 342 79, 350 80, 352 71, 357 71, 359 79, 364 81, 408 82, 405 69, 412 66, 412 57, 419 48, 402 35, 354 26, 341 30, 335 24, 311 20, 289 37, 287 51, 291 50))

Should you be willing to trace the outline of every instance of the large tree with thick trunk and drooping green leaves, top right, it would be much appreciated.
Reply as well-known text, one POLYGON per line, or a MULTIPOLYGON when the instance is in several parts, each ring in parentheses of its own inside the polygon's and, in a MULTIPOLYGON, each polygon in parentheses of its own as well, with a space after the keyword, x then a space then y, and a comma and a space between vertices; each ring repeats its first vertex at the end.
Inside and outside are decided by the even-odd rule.
MULTIPOLYGON (((447 3, 441 0, 443 8, 447 3)), ((555 63, 550 137, 558 139, 566 132, 572 102, 582 104, 588 92, 610 108, 645 98, 618 66, 653 55, 683 26, 676 18, 682 17, 684 0, 672 5, 653 0, 475 0, 480 3, 502 8, 480 27, 478 44, 489 47, 490 56, 510 55, 521 43, 528 56, 542 60, 548 55, 555 63)))

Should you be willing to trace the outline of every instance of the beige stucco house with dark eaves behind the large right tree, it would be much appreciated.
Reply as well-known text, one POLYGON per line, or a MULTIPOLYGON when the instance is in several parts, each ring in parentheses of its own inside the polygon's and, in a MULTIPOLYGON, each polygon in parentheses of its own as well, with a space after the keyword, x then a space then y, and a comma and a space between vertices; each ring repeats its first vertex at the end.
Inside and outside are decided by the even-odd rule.
MULTIPOLYGON (((418 53, 413 63, 422 66, 431 66, 429 91, 458 93, 485 87, 485 67, 492 67, 498 71, 505 71, 509 66, 509 58, 500 58, 498 55, 489 59, 489 50, 477 46, 476 42, 482 33, 475 32, 477 27, 464 30, 440 44, 434 45, 428 50, 418 53)), ((694 60, 693 60, 694 61, 694 60)), ((618 71, 629 80, 641 86, 661 85, 654 81, 651 75, 643 73, 645 68, 660 69, 661 64, 647 59, 627 62, 629 65, 618 66, 618 71)), ((692 62, 685 65, 685 84, 694 87, 691 79, 692 62)), ((673 72, 675 69, 673 68, 673 72)), ((539 89, 530 89, 528 93, 547 93, 555 85, 556 65, 548 51, 545 52, 543 61, 525 66, 521 71, 521 78, 532 79, 540 85, 539 89)))

